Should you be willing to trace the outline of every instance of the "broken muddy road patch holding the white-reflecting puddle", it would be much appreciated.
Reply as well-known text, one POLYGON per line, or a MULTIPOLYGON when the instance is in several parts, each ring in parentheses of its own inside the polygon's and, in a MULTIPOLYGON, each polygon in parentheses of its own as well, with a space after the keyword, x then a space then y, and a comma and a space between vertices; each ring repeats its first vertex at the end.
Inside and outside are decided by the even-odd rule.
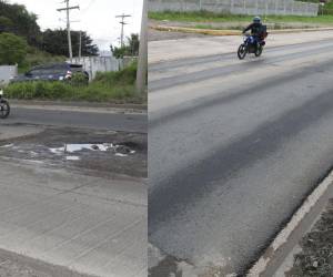
POLYGON ((147 135, 139 133, 44 127, 37 134, 0 140, 0 156, 98 176, 147 177, 147 135))

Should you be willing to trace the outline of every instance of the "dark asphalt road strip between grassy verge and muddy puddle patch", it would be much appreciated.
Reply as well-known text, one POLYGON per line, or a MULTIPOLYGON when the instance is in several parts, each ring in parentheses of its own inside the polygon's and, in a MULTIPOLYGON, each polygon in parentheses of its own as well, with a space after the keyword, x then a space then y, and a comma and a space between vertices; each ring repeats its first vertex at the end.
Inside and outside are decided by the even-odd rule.
POLYGON ((13 107, 3 123, 28 123, 57 126, 147 132, 147 114, 56 111, 50 109, 13 107))

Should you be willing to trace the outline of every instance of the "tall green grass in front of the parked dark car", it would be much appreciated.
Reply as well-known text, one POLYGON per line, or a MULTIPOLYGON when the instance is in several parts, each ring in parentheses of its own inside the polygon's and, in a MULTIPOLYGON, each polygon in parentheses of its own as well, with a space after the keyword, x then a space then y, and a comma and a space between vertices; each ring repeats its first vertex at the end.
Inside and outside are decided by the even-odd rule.
POLYGON ((144 103, 147 95, 135 93, 137 64, 119 72, 98 73, 89 85, 80 82, 22 82, 4 89, 6 96, 18 100, 61 100, 109 103, 144 103))

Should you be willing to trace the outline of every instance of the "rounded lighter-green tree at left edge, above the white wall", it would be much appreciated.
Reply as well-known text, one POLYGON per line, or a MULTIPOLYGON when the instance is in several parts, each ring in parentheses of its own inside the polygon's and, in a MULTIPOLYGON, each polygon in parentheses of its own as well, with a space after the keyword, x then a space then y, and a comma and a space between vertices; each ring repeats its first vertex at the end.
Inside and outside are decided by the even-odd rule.
POLYGON ((0 34, 0 64, 20 64, 27 54, 27 41, 12 33, 0 34))

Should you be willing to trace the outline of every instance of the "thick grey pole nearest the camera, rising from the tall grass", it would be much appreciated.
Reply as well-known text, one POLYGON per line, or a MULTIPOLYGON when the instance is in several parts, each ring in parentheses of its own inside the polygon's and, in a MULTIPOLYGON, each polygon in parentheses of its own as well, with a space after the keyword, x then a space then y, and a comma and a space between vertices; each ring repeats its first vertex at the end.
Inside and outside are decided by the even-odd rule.
POLYGON ((147 0, 143 0, 142 22, 140 34, 140 50, 137 73, 137 93, 144 93, 147 88, 147 71, 148 71, 148 11, 147 0))

